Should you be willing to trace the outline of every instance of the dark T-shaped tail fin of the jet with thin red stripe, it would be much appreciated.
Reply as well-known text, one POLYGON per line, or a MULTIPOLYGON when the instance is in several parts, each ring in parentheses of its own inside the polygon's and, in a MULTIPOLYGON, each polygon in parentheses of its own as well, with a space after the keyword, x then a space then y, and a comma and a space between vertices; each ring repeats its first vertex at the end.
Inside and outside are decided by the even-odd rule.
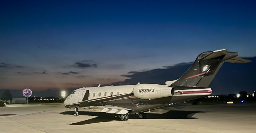
POLYGON ((246 63, 238 53, 226 49, 200 54, 194 64, 171 86, 208 87, 224 62, 246 63))

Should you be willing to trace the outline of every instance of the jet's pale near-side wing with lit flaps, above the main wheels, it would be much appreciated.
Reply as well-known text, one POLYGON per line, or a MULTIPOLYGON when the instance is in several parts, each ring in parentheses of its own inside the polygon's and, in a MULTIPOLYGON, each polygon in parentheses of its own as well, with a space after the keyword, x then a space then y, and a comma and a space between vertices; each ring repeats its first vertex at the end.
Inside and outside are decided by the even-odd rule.
POLYGON ((120 115, 124 115, 128 113, 129 111, 132 111, 131 109, 126 109, 123 107, 117 107, 117 106, 90 106, 84 109, 88 109, 88 111, 96 111, 96 112, 105 112, 105 113, 116 113, 120 115))

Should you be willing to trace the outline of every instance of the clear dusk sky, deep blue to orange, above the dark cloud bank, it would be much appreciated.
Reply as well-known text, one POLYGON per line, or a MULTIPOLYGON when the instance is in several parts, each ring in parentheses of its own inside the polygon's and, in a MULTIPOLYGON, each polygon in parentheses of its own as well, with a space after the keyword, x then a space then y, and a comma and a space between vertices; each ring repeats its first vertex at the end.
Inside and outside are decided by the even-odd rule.
POLYGON ((227 48, 256 56, 256 2, 0 2, 0 89, 123 81, 227 48))

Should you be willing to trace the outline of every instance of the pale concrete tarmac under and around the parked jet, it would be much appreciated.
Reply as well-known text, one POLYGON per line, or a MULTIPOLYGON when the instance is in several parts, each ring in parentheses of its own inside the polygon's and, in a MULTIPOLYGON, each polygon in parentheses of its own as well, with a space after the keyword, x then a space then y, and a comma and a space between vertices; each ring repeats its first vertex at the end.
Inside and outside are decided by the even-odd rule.
POLYGON ((7 105, 0 107, 0 133, 256 133, 256 104, 190 105, 165 114, 85 112, 64 105, 7 105))

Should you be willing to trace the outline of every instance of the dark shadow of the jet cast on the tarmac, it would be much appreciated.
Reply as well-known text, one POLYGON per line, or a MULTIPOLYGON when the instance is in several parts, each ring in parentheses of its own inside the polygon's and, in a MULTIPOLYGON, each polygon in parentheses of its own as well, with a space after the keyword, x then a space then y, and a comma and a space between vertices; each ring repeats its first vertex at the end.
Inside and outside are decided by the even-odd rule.
MULTIPOLYGON (((150 114, 147 113, 146 119, 197 119, 196 117, 192 117, 196 113, 205 113, 207 111, 169 111, 164 114, 150 114)), ((62 115, 73 115, 74 111, 65 111, 61 112, 62 115)), ((87 111, 79 111, 79 115, 90 115, 90 116, 97 116, 92 119, 87 119, 85 121, 80 121, 77 123, 72 123, 70 125, 86 125, 91 123, 102 123, 102 122, 111 122, 114 120, 119 120, 118 117, 114 117, 118 114, 109 114, 103 112, 87 112, 87 111)), ((130 114, 129 119, 139 119, 138 115, 130 114)))

